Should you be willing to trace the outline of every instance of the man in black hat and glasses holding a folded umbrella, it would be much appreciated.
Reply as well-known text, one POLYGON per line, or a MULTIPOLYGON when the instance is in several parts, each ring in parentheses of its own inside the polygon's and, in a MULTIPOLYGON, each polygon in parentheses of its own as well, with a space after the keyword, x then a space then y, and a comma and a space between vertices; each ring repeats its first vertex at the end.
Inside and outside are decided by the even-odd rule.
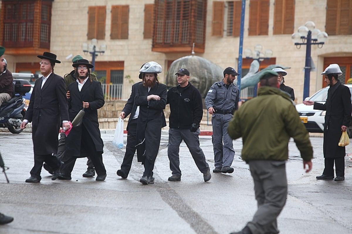
POLYGON ((85 114, 82 123, 73 126, 65 140, 65 154, 60 167, 61 180, 71 180, 71 172, 78 157, 90 157, 98 175, 95 180, 103 181, 106 178, 106 170, 103 164, 103 141, 100 136, 98 123, 98 109, 105 101, 101 84, 90 79, 90 69, 93 67, 86 59, 80 59, 72 65, 76 67, 77 82, 69 85, 70 98, 69 117, 70 121, 84 108, 85 114))

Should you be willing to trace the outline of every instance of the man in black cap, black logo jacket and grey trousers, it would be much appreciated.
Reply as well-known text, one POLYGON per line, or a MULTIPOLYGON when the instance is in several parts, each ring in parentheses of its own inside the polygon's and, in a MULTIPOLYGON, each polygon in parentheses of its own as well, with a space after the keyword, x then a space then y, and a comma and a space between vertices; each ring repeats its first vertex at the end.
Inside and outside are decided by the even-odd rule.
POLYGON ((172 176, 168 180, 181 180, 178 153, 183 140, 198 169, 203 173, 204 181, 207 182, 212 175, 203 150, 199 147, 199 123, 203 117, 202 96, 199 90, 188 82, 187 69, 181 68, 175 75, 178 85, 169 89, 167 102, 170 104, 168 157, 172 171, 172 176))

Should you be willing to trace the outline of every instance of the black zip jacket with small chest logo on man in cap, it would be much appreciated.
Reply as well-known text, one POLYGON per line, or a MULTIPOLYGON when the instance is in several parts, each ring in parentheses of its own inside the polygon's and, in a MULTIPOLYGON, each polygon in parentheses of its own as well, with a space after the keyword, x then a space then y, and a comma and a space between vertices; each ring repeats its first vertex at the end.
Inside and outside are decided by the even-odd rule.
POLYGON ((190 128, 192 123, 199 124, 203 117, 202 96, 191 83, 188 83, 182 93, 178 91, 178 86, 180 85, 168 91, 169 127, 190 128))

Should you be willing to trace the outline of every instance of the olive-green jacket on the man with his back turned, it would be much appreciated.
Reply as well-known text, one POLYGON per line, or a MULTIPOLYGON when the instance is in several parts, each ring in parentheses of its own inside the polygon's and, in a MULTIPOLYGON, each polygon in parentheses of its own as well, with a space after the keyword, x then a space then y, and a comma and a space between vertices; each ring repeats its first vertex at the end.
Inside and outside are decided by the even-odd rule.
POLYGON ((290 137, 304 161, 313 158, 308 131, 290 97, 273 87, 260 87, 258 97, 243 103, 235 111, 227 132, 232 139, 242 137, 245 161, 287 160, 290 137))

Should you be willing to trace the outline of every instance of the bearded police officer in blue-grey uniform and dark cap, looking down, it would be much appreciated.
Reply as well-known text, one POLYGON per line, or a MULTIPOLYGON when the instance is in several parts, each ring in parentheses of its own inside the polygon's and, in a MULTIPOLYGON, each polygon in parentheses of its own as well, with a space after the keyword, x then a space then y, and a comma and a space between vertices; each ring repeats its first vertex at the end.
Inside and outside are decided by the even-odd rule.
POLYGON ((227 126, 232 119, 233 112, 238 108, 239 90, 233 84, 235 76, 238 75, 235 69, 227 67, 224 70, 224 79, 221 82, 215 82, 205 97, 207 110, 213 115, 214 173, 233 173, 231 164, 235 150, 232 139, 227 133, 227 126))

